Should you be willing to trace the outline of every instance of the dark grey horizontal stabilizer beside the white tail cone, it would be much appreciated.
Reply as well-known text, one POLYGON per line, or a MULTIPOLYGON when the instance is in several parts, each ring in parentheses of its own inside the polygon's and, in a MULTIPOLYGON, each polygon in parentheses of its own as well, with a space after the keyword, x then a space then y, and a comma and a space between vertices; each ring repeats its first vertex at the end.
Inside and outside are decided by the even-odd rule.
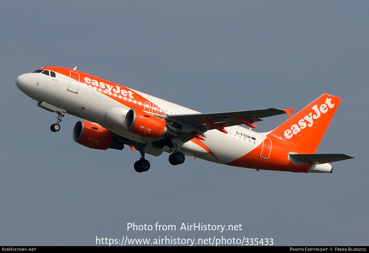
POLYGON ((301 162, 312 164, 332 163, 355 158, 346 154, 289 154, 289 155, 301 162))

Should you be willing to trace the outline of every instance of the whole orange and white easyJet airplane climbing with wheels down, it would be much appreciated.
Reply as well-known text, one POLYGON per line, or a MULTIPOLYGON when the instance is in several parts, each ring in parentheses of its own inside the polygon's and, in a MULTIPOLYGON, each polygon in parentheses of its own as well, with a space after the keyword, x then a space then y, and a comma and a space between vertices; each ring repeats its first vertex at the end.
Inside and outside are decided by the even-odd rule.
POLYGON ((186 156, 242 168, 295 173, 332 173, 331 162, 346 154, 315 154, 341 98, 323 94, 291 117, 293 109, 200 113, 65 67, 41 67, 18 76, 15 84, 38 107, 56 113, 52 132, 65 114, 78 121, 73 140, 91 149, 141 153, 135 171, 148 171, 145 154, 169 153, 169 163, 186 156), (255 132, 262 118, 287 114, 289 119, 269 132, 255 132), (246 127, 242 127, 245 125, 246 127))

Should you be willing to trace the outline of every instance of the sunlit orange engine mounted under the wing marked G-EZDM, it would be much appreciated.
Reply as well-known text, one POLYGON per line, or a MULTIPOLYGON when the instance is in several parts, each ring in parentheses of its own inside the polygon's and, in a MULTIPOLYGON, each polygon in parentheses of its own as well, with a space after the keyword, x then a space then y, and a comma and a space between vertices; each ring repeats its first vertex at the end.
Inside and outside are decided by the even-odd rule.
POLYGON ((144 111, 127 112, 124 127, 133 134, 146 138, 176 138, 177 133, 165 125, 165 121, 144 111))

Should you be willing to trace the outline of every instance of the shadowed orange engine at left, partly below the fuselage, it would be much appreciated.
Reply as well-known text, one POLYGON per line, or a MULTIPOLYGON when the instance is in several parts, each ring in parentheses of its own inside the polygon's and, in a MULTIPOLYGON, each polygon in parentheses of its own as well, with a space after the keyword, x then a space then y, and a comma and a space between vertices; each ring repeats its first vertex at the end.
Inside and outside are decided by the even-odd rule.
POLYGON ((87 121, 78 121, 73 128, 72 136, 75 142, 91 149, 124 148, 124 144, 117 141, 108 129, 87 121))

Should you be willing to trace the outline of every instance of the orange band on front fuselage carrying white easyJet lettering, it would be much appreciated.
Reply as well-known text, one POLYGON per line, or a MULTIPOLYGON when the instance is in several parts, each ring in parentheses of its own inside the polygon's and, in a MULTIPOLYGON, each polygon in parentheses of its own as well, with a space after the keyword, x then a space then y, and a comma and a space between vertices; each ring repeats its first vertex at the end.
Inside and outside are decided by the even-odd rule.
POLYGON ((51 70, 54 72, 57 72, 59 74, 63 74, 66 77, 70 77, 70 71, 76 72, 80 74, 80 79, 79 82, 80 83, 85 83, 87 86, 91 85, 92 89, 93 87, 96 87, 98 92, 100 92, 101 94, 104 94, 107 97, 110 97, 111 99, 114 99, 115 101, 118 101, 119 103, 125 105, 128 108, 132 108, 135 110, 141 110, 141 111, 150 111, 150 112, 155 112, 158 114, 165 114, 164 111, 160 112, 160 109, 158 107, 158 105, 155 105, 153 102, 149 101, 148 99, 142 97, 141 95, 137 94, 135 91, 132 91, 131 89, 120 85, 120 84, 116 84, 113 82, 109 82, 107 80, 101 79, 99 77, 96 76, 92 76, 90 74, 86 74, 83 72, 80 72, 78 70, 73 70, 73 69, 68 69, 65 67, 55 67, 55 66, 51 66, 51 67, 41 67, 40 69, 47 69, 47 70, 51 70), (91 83, 87 83, 85 78, 89 78, 91 80, 96 80, 96 82, 99 84, 99 86, 93 85, 92 81, 90 81, 91 83), (100 86, 101 83, 101 86, 100 86), (107 86, 108 85, 108 86, 107 86), (104 93, 104 90, 109 90, 110 87, 110 91, 111 91, 111 95, 109 95, 109 92, 104 93), (101 91, 99 91, 99 88, 101 88, 101 91), (124 92, 125 91, 125 92, 124 92), (116 97, 114 97, 114 93, 117 94, 116 97), (119 98, 119 95, 122 96, 122 98, 119 98), (127 98, 127 100, 124 100, 124 97, 127 98), (131 99, 131 102, 129 101, 129 99, 131 99), (134 103, 134 100, 136 100, 137 103, 134 103), (138 103, 141 102, 141 105, 139 105, 138 103), (149 102, 150 106, 149 108, 145 107, 145 102, 149 102), (155 108, 156 110, 154 110, 155 108))

